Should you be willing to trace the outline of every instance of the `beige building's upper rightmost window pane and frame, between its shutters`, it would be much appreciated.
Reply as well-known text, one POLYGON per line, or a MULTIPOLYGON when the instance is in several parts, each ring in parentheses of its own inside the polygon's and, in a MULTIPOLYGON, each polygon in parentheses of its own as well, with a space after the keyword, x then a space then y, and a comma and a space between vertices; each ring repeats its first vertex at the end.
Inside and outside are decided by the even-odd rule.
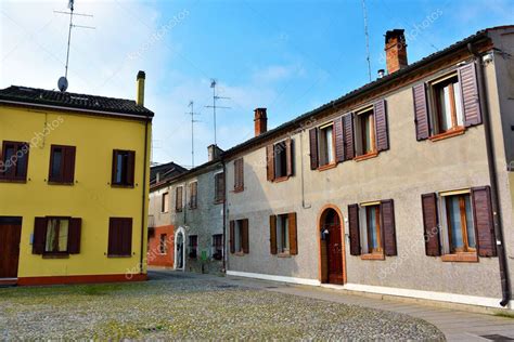
POLYGON ((433 134, 441 134, 464 127, 461 89, 457 74, 431 83, 433 134))

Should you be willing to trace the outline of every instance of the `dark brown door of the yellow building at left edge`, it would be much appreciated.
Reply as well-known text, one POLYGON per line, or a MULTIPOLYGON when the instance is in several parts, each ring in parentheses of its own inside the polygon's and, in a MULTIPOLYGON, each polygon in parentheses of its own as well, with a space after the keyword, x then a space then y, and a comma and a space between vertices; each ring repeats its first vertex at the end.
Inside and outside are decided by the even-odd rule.
POLYGON ((17 278, 22 220, 0 218, 0 279, 17 278))

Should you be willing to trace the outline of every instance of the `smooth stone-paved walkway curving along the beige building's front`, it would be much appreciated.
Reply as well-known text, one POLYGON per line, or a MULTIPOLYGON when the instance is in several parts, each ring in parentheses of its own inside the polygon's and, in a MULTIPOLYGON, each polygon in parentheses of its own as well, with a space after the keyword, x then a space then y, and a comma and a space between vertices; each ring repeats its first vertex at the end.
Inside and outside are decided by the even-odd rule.
MULTIPOLYGON (((160 274, 156 275, 157 277, 163 276, 163 273, 174 273, 175 276, 178 275, 177 272, 174 271, 158 271, 157 273, 160 274)), ((151 278, 153 274, 155 273, 149 273, 151 278)), ((193 275, 190 273, 184 275, 188 277, 197 276, 211 279, 215 278, 218 281, 258 288, 266 291, 277 291, 324 301, 408 314, 435 325, 445 333, 448 341, 514 341, 514 318, 436 307, 428 304, 406 303, 390 299, 381 300, 363 295, 342 293, 337 289, 322 287, 299 286, 233 276, 219 277, 213 275, 193 275)))

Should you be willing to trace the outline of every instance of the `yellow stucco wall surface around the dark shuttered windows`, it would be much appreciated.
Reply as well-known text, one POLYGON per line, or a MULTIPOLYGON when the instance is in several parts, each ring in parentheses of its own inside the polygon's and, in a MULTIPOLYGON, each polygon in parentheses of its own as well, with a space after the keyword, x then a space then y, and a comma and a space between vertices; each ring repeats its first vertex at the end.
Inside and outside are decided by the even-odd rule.
MULTIPOLYGON (((144 122, 136 120, 0 106, 0 141, 30 142, 27 182, 0 183, 0 215, 23 218, 18 278, 139 273, 143 198, 144 227, 147 218, 147 185, 142 194, 144 129, 144 122), (53 129, 46 129, 48 124, 53 129), (47 184, 51 144, 76 146, 73 186, 47 184), (115 148, 136 150, 133 188, 110 185, 115 148), (82 219, 79 254, 43 259, 31 253, 34 220, 48 215, 82 219), (111 216, 133 219, 131 258, 106 256, 111 216)), ((147 152, 146 159, 150 143, 147 152)), ((143 255, 145 241, 143 236, 143 255)))

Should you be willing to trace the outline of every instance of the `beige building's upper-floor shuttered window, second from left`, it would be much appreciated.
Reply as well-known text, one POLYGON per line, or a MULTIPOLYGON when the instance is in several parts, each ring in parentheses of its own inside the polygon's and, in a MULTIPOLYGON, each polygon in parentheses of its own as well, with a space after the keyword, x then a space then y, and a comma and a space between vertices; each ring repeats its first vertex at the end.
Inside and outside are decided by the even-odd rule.
POLYGON ((268 181, 277 182, 286 180, 294 174, 293 140, 286 139, 266 148, 268 181))

